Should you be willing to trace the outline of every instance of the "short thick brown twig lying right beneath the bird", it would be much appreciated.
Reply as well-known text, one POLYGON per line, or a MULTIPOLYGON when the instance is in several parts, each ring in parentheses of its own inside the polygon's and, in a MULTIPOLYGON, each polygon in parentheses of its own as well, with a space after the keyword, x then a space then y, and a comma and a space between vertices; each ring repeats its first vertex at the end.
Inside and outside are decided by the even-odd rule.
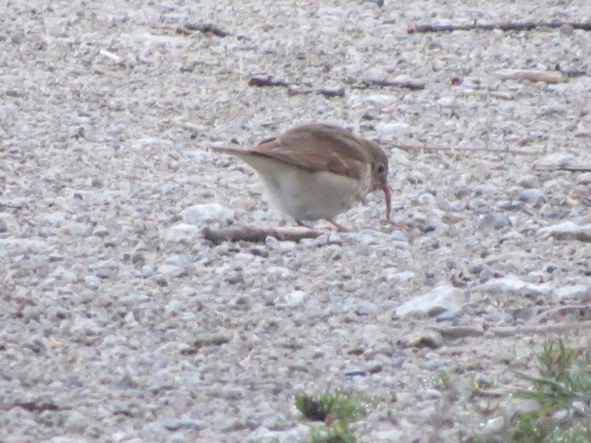
POLYGON ((322 231, 309 229, 307 227, 277 227, 277 228, 256 228, 251 226, 230 227, 224 229, 212 229, 204 227, 203 237, 216 245, 222 242, 245 242, 262 243, 267 237, 275 237, 277 240, 290 240, 298 242, 301 239, 315 239, 323 234, 322 231))

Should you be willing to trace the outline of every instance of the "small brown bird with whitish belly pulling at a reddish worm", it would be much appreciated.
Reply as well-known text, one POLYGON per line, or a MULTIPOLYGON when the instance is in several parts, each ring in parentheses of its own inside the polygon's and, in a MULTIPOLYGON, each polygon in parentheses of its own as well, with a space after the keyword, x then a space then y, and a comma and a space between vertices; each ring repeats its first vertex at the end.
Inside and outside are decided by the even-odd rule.
POLYGON ((382 190, 386 218, 392 222, 388 157, 374 142, 348 129, 324 123, 296 126, 264 139, 254 148, 212 148, 233 155, 254 168, 268 189, 272 203, 303 222, 327 220, 341 232, 335 216, 382 190))

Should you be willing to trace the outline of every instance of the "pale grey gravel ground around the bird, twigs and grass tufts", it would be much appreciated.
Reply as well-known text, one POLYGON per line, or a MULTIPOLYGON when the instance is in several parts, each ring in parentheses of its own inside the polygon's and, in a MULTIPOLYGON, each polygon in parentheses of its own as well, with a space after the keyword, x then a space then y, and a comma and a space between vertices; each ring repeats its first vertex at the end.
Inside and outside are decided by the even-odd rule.
POLYGON ((553 170, 591 167, 589 32, 407 34, 584 22, 587 0, 21 0, 0 17, 2 442, 296 442, 294 393, 329 385, 374 399, 366 441, 457 441, 519 407, 475 380, 505 395, 544 338, 591 335, 591 174, 553 170), (495 75, 557 65, 557 84, 495 75), (345 94, 297 93, 323 88, 345 94), (293 224, 207 147, 312 121, 382 142, 409 229, 376 193, 337 218, 351 233, 204 240, 293 224))

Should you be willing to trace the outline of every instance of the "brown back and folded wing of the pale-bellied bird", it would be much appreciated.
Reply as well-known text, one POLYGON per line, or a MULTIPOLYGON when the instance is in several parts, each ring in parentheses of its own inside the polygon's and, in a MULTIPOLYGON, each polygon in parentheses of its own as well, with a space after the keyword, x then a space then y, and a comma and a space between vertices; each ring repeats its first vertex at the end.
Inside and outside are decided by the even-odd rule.
POLYGON ((309 171, 329 171, 358 179, 371 162, 366 143, 336 126, 304 125, 267 139, 248 152, 309 171))

